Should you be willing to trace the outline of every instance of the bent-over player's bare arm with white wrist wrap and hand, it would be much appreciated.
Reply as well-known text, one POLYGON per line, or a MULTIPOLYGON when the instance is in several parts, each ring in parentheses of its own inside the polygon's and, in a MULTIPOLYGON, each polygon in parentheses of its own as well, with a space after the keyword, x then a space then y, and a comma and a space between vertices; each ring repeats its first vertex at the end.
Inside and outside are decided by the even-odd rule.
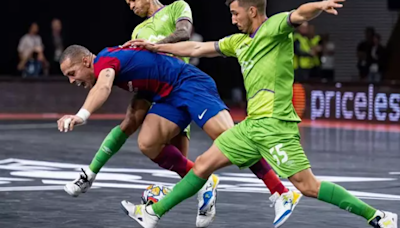
POLYGON ((66 115, 59 119, 57 121, 58 129, 67 132, 68 130, 72 131, 75 125, 84 124, 90 114, 98 110, 110 96, 114 78, 114 69, 102 70, 81 110, 76 115, 66 115))

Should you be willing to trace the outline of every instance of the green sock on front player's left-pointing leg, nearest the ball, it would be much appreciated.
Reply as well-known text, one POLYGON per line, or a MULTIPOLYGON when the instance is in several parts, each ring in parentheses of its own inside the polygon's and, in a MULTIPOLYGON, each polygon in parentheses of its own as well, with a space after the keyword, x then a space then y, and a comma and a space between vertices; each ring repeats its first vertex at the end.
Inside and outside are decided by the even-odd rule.
POLYGON ((168 195, 158 203, 153 204, 154 213, 159 217, 163 216, 167 211, 171 210, 180 202, 196 194, 206 182, 207 179, 202 179, 196 176, 193 170, 190 170, 189 173, 175 185, 168 195))

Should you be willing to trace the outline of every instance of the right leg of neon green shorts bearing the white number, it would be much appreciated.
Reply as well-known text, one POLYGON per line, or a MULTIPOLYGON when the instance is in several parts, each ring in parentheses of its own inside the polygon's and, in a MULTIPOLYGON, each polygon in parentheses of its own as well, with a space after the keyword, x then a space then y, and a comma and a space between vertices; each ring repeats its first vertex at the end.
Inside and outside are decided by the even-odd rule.
POLYGON ((250 137, 279 176, 288 178, 310 168, 297 123, 265 118, 252 120, 252 125, 250 137))

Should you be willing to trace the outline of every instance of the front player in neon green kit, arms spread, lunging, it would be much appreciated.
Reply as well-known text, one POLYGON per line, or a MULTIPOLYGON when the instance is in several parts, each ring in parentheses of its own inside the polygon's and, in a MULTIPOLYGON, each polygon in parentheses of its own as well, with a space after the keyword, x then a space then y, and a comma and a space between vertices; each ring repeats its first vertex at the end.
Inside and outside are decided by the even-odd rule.
POLYGON ((219 42, 182 42, 157 45, 143 40, 132 45, 179 56, 236 57, 242 67, 248 100, 246 120, 226 131, 197 158, 188 173, 164 199, 152 206, 131 205, 129 215, 146 228, 155 227, 167 211, 194 195, 209 175, 235 164, 246 168, 264 157, 304 195, 331 203, 364 217, 376 228, 397 228, 397 215, 374 209, 344 188, 319 181, 300 145, 300 118, 292 105, 294 27, 322 11, 336 15, 344 0, 307 3, 291 13, 266 17, 265 0, 228 0, 232 22, 246 34, 219 42))

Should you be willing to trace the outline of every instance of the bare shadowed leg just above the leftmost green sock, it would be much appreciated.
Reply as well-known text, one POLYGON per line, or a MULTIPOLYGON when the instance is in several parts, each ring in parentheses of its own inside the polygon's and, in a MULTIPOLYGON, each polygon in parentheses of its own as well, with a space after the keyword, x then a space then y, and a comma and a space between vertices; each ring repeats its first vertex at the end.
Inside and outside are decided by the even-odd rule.
POLYGON ((135 133, 143 123, 149 108, 150 102, 132 99, 126 110, 125 118, 120 124, 121 130, 128 136, 135 133))

